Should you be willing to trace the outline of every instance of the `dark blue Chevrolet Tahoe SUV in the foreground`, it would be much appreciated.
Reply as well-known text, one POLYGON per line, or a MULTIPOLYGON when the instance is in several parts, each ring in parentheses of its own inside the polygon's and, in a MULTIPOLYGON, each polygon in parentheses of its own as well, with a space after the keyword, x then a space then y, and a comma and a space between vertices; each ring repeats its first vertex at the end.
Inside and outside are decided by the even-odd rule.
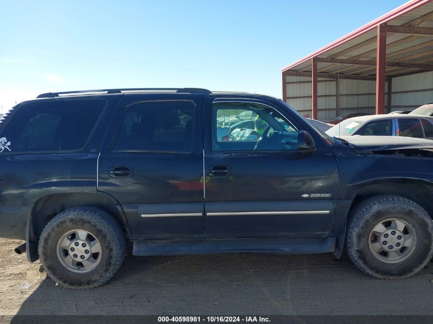
POLYGON ((106 283, 127 241, 143 256, 346 248, 387 279, 433 255, 433 141, 336 139, 280 99, 204 89, 42 94, 0 133, 0 236, 66 287, 106 283), (218 138, 235 109, 260 127, 218 138))

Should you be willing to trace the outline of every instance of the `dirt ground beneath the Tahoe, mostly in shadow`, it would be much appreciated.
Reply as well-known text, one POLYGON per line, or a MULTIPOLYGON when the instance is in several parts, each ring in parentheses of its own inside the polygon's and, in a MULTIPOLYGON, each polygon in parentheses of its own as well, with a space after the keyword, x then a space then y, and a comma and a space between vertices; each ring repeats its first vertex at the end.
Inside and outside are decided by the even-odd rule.
POLYGON ((133 257, 106 285, 69 290, 0 239, 0 314, 433 314, 433 264, 377 280, 332 254, 133 257))

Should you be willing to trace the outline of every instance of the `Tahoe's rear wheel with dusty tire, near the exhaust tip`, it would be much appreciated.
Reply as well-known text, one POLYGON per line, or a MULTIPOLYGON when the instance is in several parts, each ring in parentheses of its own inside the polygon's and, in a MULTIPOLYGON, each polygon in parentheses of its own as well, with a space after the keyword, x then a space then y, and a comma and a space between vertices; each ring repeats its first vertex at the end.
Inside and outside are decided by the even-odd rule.
POLYGON ((74 289, 105 284, 120 268, 125 238, 108 212, 92 206, 67 209, 40 234, 40 262, 55 282, 74 289))

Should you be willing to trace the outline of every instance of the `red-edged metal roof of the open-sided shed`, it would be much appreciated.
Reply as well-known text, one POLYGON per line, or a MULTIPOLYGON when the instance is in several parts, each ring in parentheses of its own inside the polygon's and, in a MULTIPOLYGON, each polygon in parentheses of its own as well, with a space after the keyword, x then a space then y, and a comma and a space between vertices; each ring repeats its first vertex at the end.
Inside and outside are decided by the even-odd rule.
POLYGON ((318 57, 321 74, 375 75, 377 27, 382 24, 388 28, 387 76, 433 70, 433 0, 411 0, 281 71, 311 71, 311 59, 318 57), (415 63, 420 67, 414 68, 415 63))

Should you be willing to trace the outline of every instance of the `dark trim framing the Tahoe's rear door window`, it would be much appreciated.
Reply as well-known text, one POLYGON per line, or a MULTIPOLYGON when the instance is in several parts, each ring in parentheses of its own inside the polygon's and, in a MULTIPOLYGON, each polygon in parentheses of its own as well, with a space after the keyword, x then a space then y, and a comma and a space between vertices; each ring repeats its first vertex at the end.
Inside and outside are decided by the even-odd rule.
POLYGON ((129 103, 128 105, 126 105, 125 110, 123 110, 122 115, 119 118, 119 121, 117 123, 114 135, 111 139, 111 143, 109 146, 110 152, 113 153, 162 153, 162 154, 193 154, 194 153, 194 144, 195 144, 195 124, 196 124, 196 110, 197 110, 197 105, 195 103, 194 100, 192 99, 168 99, 168 100, 164 100, 164 99, 157 99, 157 100, 137 100, 134 102, 129 103), (175 150, 162 150, 162 149, 113 149, 114 146, 114 142, 116 140, 117 137, 117 133, 119 131, 120 125, 123 121, 123 117, 125 117, 126 113, 128 112, 128 110, 135 104, 139 104, 139 103, 148 103, 148 102, 191 102, 193 104, 193 137, 191 140, 191 148, 189 151, 175 151, 175 150))

